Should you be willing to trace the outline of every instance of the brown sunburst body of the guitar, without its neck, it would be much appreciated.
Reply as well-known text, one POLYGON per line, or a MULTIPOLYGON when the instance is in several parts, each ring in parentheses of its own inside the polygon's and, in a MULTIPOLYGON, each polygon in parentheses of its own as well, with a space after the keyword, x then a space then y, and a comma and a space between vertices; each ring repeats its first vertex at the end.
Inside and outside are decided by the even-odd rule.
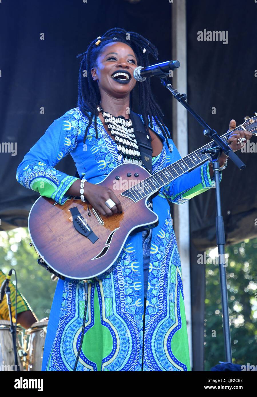
POLYGON ((139 183, 149 175, 137 164, 121 164, 97 184, 114 191, 122 204, 122 214, 95 214, 93 206, 80 198, 71 198, 60 205, 51 198, 39 197, 29 213, 28 227, 31 241, 44 263, 56 273, 73 279, 90 279, 110 268, 130 233, 143 230, 145 225, 158 225, 157 214, 146 204, 153 193, 137 202, 121 196, 126 183, 131 187, 132 179, 139 183), (128 173, 131 176, 127 176, 128 173), (118 189, 117 185, 114 189, 114 183, 118 183, 118 189), (71 208, 79 213, 72 216, 71 208), (79 218, 79 222, 75 218, 79 218), (88 237, 78 231, 82 229, 80 225, 84 225, 80 219, 86 220, 87 227, 83 227, 88 237))

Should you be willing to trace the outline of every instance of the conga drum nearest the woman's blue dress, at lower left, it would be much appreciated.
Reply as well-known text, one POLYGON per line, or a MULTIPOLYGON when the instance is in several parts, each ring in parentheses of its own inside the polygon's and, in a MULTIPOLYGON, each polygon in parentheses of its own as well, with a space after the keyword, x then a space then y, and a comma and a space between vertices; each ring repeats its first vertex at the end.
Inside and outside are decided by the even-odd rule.
POLYGON ((26 361, 27 371, 41 371, 47 324, 48 319, 37 321, 26 331, 26 335, 29 337, 26 361))

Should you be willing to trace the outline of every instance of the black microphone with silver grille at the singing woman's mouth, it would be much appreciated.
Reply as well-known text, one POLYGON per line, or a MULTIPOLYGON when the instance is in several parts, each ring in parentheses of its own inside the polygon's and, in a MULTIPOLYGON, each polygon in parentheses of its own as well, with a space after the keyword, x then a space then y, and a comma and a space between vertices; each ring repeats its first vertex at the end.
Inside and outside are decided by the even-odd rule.
POLYGON ((137 66, 133 75, 137 81, 145 81, 147 77, 165 77, 171 70, 177 69, 177 67, 180 67, 179 61, 167 61, 147 67, 137 66))

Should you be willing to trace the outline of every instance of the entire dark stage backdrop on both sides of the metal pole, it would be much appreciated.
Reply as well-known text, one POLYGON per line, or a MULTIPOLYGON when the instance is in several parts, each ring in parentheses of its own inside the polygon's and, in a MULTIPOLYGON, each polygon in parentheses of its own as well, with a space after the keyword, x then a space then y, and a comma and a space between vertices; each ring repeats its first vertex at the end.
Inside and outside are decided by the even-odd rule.
MULTIPOLYGON (((254 0, 187 1, 188 101, 220 134, 227 131, 230 119, 240 124, 244 116, 257 112, 256 8, 254 0), (197 32, 204 29, 228 31, 228 44, 197 41, 197 32), (216 114, 212 114, 213 107, 216 114)), ((158 62, 169 60, 171 10, 168 0, 0 3, 1 142, 17 143, 16 156, 0 156, 2 229, 27 226, 29 210, 38 195, 17 183, 16 169, 52 121, 76 106, 76 55, 84 52, 91 40, 117 26, 151 40, 159 50, 158 62), (40 40, 41 33, 44 40, 40 40), (44 114, 40 114, 42 107, 44 114)), ((152 62, 156 63, 154 59, 152 62)), ((171 130, 171 95, 158 80, 152 84, 171 130)), ((206 142, 201 127, 189 116, 190 152, 206 142)), ((227 243, 257 235, 256 153, 239 155, 247 168, 239 171, 230 162, 220 185, 227 243)), ((57 168, 75 173, 70 156, 57 168)), ((204 346, 205 270, 196 264, 196 258, 200 250, 216 245, 214 225, 211 189, 190 201, 194 370, 203 368, 204 346)))

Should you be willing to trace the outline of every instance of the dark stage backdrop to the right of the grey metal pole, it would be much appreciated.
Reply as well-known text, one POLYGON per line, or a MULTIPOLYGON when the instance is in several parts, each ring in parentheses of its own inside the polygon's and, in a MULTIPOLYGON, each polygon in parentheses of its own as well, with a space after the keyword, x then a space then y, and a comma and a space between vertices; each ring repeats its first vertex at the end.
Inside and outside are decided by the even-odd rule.
MULTIPOLYGON (((219 135, 228 130, 230 119, 239 125, 257 112, 256 16, 257 4, 251 0, 187 1, 188 102, 219 135), (228 31, 228 44, 197 41, 197 33, 204 29, 228 31)), ((188 125, 192 152, 207 138, 191 115, 188 125)), ((251 141, 256 143, 256 137, 251 141)), ((245 170, 228 160, 220 183, 227 244, 257 235, 257 155, 237 154, 245 170)), ((214 193, 210 189, 189 202, 193 369, 198 371, 203 370, 204 357, 205 267, 197 264, 197 254, 216 246, 214 193)))

